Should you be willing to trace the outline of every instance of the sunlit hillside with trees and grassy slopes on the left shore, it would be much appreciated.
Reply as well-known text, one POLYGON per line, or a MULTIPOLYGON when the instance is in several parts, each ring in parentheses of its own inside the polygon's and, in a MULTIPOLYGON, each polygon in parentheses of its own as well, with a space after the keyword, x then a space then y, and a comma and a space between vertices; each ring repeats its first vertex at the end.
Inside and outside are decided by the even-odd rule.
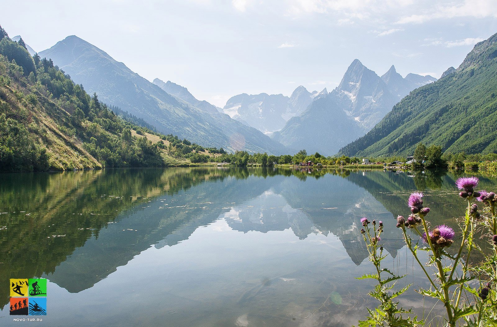
MULTIPOLYGON (((166 166, 213 156, 121 118, 51 60, 31 57, 24 46, 2 36, 0 171, 166 166)), ((120 115, 140 123, 126 112, 120 115)))

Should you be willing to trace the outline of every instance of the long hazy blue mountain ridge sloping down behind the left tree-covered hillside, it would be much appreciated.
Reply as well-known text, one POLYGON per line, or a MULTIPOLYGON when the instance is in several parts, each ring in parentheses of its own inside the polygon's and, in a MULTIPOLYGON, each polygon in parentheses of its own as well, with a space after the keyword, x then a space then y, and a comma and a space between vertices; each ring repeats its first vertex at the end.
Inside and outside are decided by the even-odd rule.
POLYGON ((179 85, 169 85, 178 94, 171 95, 77 36, 68 36, 39 55, 51 58, 89 93, 96 92, 102 101, 144 119, 161 133, 229 151, 288 153, 281 144, 208 103, 182 99, 179 85))

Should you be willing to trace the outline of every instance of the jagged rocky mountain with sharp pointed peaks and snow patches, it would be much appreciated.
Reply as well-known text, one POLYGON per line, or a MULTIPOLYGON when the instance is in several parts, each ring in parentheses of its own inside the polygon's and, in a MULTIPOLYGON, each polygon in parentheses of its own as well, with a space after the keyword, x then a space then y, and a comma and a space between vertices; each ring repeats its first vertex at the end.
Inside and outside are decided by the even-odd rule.
POLYGON ((380 78, 356 59, 334 90, 316 97, 271 137, 294 151, 333 155, 371 130, 411 90, 434 81, 415 74, 402 78, 394 66, 380 78))

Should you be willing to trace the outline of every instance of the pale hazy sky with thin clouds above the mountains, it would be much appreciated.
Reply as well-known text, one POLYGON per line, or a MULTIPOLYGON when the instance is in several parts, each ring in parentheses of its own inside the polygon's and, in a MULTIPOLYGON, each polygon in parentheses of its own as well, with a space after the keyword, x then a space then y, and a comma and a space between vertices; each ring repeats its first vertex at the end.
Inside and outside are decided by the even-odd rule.
POLYGON ((2 0, 35 51, 77 35, 152 81, 223 107, 236 94, 329 90, 359 59, 440 77, 497 33, 497 0, 2 0))

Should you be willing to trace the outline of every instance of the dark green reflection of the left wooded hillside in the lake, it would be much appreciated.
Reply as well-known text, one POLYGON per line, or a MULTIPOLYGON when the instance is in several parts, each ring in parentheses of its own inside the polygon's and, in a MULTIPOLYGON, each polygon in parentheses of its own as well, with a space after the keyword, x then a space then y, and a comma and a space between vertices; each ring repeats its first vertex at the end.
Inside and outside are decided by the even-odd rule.
POLYGON ((247 178, 247 169, 104 169, 0 175, 0 298, 7 280, 51 273, 121 212, 208 180, 247 178), (26 211, 26 212, 24 212, 26 211), (55 237, 53 237, 55 236, 55 237), (13 277, 12 277, 13 278, 13 277))

